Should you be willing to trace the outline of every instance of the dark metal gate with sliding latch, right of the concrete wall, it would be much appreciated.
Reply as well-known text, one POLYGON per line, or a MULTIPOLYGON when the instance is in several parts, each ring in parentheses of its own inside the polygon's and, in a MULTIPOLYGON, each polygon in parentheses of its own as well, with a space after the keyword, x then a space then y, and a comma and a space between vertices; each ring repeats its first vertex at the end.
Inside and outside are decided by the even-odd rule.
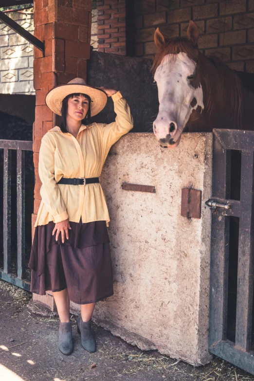
POLYGON ((254 374, 254 132, 213 134, 209 350, 254 374))

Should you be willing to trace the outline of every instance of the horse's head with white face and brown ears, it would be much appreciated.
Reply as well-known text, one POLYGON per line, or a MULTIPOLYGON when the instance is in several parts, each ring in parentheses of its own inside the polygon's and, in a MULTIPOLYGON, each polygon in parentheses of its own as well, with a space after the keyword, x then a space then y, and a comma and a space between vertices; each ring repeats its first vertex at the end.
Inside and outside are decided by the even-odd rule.
POLYGON ((199 118, 203 90, 199 71, 199 31, 190 21, 187 37, 166 40, 159 28, 154 40, 158 48, 153 63, 154 80, 158 86, 159 113, 153 131, 160 145, 179 145, 181 133, 190 118, 199 118))

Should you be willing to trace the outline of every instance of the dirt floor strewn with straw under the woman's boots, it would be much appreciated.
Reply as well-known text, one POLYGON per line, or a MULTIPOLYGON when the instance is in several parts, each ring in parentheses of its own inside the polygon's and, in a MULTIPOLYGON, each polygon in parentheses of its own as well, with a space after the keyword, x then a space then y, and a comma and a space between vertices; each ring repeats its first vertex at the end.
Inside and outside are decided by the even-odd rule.
POLYGON ((58 350, 58 319, 32 316, 31 294, 0 280, 0 381, 245 381, 254 376, 217 357, 208 365, 187 363, 144 352, 93 325, 97 351, 80 345, 73 321, 74 351, 58 350))

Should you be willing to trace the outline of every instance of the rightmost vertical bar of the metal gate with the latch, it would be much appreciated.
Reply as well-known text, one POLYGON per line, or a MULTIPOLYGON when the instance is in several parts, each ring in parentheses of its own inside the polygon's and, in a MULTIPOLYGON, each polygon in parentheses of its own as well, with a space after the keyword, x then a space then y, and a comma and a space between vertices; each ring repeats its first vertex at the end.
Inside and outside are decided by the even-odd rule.
POLYGON ((253 151, 242 151, 239 225, 236 346, 251 348, 253 303, 253 151), (250 173, 252 174, 250 176, 250 173))

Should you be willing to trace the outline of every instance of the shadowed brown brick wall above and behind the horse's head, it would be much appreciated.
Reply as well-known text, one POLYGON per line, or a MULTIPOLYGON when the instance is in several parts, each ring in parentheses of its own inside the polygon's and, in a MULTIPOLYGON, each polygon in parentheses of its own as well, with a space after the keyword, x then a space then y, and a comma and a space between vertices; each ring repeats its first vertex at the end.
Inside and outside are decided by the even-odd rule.
POLYGON ((199 48, 231 68, 254 73, 254 0, 134 0, 135 55, 152 58, 154 32, 185 36, 188 21, 199 27, 199 48))

